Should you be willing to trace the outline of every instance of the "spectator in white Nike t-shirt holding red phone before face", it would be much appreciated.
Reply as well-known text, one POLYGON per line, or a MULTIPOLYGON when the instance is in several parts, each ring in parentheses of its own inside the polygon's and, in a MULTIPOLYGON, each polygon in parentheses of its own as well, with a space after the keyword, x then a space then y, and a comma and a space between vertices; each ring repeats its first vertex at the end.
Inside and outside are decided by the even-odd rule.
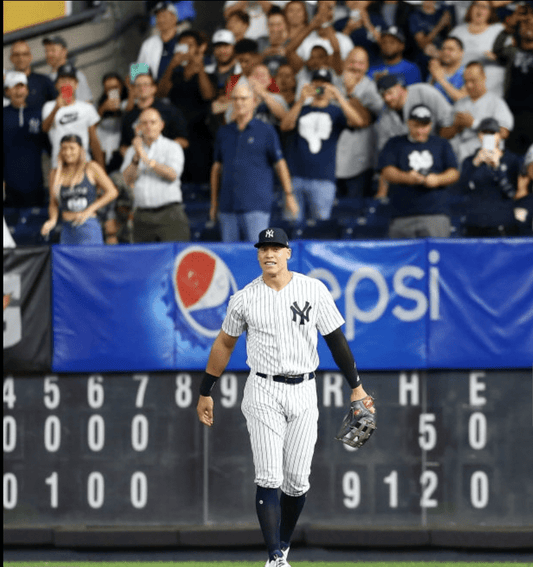
POLYGON ((48 134, 52 144, 52 164, 57 165, 60 140, 65 134, 77 134, 85 152, 105 168, 104 153, 96 134, 96 125, 100 116, 94 106, 77 98, 78 74, 76 69, 65 63, 57 70, 56 89, 59 96, 43 106, 42 129, 48 134))

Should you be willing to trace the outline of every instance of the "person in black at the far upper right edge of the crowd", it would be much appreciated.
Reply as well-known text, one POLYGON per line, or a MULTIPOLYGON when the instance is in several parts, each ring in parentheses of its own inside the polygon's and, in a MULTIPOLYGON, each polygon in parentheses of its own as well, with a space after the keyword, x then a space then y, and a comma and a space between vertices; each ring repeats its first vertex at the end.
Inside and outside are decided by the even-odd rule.
POLYGON ((524 154, 533 144, 533 6, 520 18, 517 27, 515 42, 509 42, 508 34, 501 34, 503 37, 494 49, 500 61, 507 65, 505 101, 515 119, 506 146, 511 151, 524 154))

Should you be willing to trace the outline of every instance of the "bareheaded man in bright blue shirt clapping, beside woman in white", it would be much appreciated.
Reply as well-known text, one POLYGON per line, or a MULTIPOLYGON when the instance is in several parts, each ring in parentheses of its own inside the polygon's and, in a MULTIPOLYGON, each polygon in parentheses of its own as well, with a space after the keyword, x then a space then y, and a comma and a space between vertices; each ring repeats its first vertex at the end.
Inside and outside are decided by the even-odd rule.
POLYGON ((429 62, 429 83, 453 104, 466 96, 463 65, 463 42, 458 37, 447 37, 442 48, 429 62))

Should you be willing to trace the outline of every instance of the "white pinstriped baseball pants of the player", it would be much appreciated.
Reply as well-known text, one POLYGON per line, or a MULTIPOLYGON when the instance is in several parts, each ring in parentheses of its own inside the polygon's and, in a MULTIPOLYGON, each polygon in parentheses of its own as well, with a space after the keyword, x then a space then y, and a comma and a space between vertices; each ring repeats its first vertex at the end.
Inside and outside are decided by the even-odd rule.
POLYGON ((250 435, 255 483, 288 496, 309 490, 318 437, 316 380, 284 384, 251 373, 241 405, 250 435))

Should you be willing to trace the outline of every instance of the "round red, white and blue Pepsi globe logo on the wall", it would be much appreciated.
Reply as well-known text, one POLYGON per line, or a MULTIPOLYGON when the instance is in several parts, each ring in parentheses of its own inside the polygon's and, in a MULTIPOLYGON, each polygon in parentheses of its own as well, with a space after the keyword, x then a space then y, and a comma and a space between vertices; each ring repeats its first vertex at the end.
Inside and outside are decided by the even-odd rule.
POLYGON ((187 323, 205 337, 216 337, 230 297, 238 290, 226 263, 211 250, 191 246, 176 257, 172 281, 187 323))

